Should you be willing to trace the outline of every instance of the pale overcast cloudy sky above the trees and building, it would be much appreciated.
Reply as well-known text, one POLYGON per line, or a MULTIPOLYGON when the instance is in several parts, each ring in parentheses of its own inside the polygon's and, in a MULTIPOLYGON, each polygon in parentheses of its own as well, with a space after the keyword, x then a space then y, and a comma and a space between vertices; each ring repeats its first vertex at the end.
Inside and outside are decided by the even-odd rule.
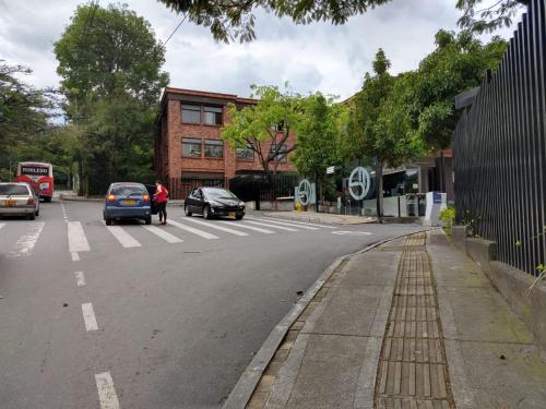
MULTIPOLYGON (((57 86, 52 48, 82 1, 0 0, 0 59, 29 67, 26 81, 57 86)), ((105 7, 108 0, 99 0, 105 7)), ((181 17, 154 0, 128 0, 165 40, 181 17)), ((360 88, 364 74, 382 47, 392 73, 415 69, 434 49, 439 28, 456 29, 456 0, 392 0, 355 16, 346 25, 296 26, 258 11, 258 39, 217 44, 207 28, 185 22, 167 44, 164 70, 170 86, 249 96, 250 84, 282 85, 299 93, 321 91, 347 98, 360 88)), ((497 34, 505 38, 512 29, 497 34)), ((487 39, 488 37, 484 37, 487 39)))

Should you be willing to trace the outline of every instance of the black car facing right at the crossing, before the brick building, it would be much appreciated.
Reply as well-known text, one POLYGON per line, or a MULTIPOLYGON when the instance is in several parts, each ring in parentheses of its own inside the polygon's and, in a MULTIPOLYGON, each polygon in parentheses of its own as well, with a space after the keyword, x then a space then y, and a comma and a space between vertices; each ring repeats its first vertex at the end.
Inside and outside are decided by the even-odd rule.
POLYGON ((240 220, 245 216, 245 202, 227 189, 198 188, 186 197, 183 210, 186 216, 198 213, 205 219, 228 216, 240 220))

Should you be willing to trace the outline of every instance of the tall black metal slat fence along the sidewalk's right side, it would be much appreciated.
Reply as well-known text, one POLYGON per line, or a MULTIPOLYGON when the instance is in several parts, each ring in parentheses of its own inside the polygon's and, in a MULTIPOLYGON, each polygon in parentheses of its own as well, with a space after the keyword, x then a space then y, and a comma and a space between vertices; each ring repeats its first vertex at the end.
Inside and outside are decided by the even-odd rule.
POLYGON ((546 253, 545 19, 544 0, 531 0, 453 135, 458 221, 533 275, 546 253))

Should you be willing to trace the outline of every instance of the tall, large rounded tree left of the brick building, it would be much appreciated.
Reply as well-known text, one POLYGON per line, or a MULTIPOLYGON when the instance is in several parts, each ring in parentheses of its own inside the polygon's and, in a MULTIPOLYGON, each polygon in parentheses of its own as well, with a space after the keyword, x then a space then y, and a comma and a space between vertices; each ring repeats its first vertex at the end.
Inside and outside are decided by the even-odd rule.
POLYGON ((114 180, 151 181, 154 120, 168 74, 150 23, 127 5, 82 4, 55 52, 87 193, 104 193, 114 180))

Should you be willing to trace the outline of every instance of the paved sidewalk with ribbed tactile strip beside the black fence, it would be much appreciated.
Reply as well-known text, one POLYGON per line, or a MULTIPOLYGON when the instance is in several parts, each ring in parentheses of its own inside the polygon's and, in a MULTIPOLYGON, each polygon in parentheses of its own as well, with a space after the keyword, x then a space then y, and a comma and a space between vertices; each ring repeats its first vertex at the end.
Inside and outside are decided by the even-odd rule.
POLYGON ((346 257, 287 329, 226 408, 546 408, 531 333, 440 230, 346 257))

